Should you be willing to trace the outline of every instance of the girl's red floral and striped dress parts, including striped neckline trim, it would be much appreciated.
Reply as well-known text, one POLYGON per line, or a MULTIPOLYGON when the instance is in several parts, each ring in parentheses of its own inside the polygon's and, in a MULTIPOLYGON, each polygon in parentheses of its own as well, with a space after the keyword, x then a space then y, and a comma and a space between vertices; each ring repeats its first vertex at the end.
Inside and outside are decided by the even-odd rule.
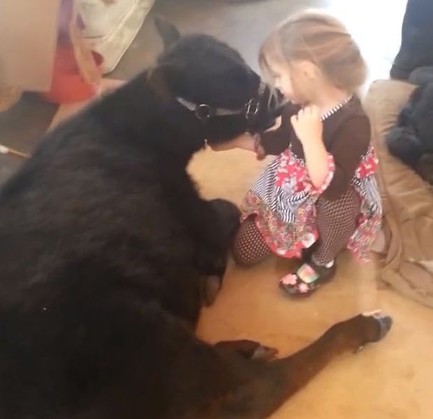
MULTIPOLYGON (((348 100, 332 109, 322 120, 341 109, 348 100)), ((358 227, 347 247, 362 261, 368 259, 369 248, 381 227, 381 199, 374 176, 377 165, 376 154, 369 146, 351 180, 351 187, 360 197, 360 212, 358 227)), ((318 239, 316 203, 329 187, 334 174, 334 156, 328 153, 328 176, 320 189, 315 188, 304 158, 293 152, 291 144, 267 166, 247 193, 241 206, 242 218, 256 215, 256 227, 272 252, 281 257, 299 258, 302 249, 318 239)))

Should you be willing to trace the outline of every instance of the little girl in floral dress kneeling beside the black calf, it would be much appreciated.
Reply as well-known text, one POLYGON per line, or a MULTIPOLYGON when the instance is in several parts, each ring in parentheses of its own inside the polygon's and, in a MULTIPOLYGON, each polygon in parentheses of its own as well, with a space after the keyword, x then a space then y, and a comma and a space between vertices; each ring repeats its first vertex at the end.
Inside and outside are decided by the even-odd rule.
POLYGON ((234 257, 243 265, 272 253, 302 259, 280 287, 307 296, 332 279, 344 247, 367 259, 381 225, 377 160, 355 94, 365 62, 345 27, 318 12, 281 24, 259 60, 289 102, 279 128, 224 147, 278 155, 242 202, 234 257))

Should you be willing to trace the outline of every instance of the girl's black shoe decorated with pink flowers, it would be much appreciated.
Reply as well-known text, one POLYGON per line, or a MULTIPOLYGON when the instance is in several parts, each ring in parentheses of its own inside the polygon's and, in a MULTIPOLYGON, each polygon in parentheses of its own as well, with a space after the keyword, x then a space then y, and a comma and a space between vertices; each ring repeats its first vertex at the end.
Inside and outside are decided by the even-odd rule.
POLYGON ((332 280, 335 271, 334 261, 326 266, 321 266, 309 259, 302 264, 296 273, 286 275, 279 282, 279 287, 290 296, 307 297, 321 285, 332 280))

